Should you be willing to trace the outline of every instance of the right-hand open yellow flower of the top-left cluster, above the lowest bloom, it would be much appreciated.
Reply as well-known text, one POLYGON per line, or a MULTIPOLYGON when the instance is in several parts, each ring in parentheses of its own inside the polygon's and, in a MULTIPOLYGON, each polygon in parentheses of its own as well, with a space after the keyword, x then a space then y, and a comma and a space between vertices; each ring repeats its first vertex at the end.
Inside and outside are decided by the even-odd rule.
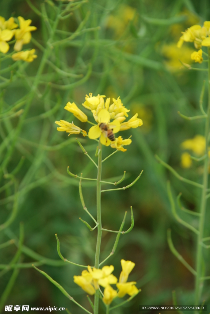
POLYGON ((15 39, 14 50, 20 51, 23 45, 28 44, 31 40, 31 31, 36 30, 35 26, 30 26, 31 19, 24 20, 22 16, 18 17, 20 28, 14 31, 15 39))

